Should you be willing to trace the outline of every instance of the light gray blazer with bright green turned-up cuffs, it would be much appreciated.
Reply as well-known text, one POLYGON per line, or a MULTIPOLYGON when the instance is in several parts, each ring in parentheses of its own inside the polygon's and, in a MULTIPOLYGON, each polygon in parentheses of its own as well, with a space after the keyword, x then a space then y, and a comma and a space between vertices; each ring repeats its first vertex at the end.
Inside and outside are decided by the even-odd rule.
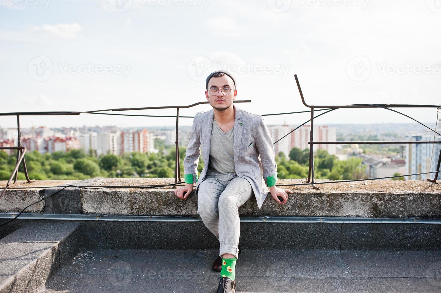
MULTIPOLYGON (((269 193, 267 182, 270 182, 269 186, 275 185, 278 177, 273 140, 263 122, 262 115, 243 111, 235 103, 232 106, 235 109, 233 134, 235 172, 239 177, 246 178, 250 182, 260 209, 269 193)), ((205 179, 207 173, 213 119, 213 109, 201 111, 195 115, 185 152, 184 174, 187 178, 186 182, 197 182, 194 191, 196 195, 198 195, 199 184, 205 179), (199 177, 198 162, 201 145, 204 169, 199 177)))

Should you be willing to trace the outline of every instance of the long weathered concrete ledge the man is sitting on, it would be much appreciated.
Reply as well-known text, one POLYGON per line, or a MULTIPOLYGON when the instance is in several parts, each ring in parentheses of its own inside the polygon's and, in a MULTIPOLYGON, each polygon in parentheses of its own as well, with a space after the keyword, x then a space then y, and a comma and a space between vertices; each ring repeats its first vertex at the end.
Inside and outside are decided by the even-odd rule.
MULTIPOLYGON (((303 183, 304 179, 279 180, 277 185, 303 183)), ((333 182, 333 180, 317 180, 333 182)), ((5 182, 0 182, 1 184, 5 182)), ((53 194, 53 189, 39 186, 64 185, 65 181, 33 182, 22 184, 26 189, 11 189, 0 200, 0 212, 18 212, 32 201, 36 194, 53 194)), ((28 209, 27 212, 102 215, 198 215, 198 201, 194 192, 187 200, 180 200, 175 187, 142 189, 135 185, 174 183, 173 178, 93 178, 85 184, 106 189, 68 188, 63 195, 56 194, 51 202, 28 209), (60 197, 58 197, 60 195, 60 197)), ((19 185, 20 186, 20 185, 19 185)), ((239 208, 240 215, 273 216, 329 216, 367 218, 431 218, 441 219, 441 187, 425 180, 392 181, 371 180, 347 183, 280 186, 294 191, 288 203, 281 206, 268 194, 262 209, 254 197, 239 208)), ((21 186, 20 186, 21 187, 21 186)))

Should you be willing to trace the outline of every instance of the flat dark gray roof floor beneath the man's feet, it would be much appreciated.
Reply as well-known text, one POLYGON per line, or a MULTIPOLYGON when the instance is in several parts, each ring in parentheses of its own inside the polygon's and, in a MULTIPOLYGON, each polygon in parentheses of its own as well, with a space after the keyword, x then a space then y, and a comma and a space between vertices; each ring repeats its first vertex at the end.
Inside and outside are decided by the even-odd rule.
MULTIPOLYGON (((86 250, 42 292, 215 292, 217 252, 86 250)), ((440 292, 440 269, 437 250, 243 249, 236 292, 440 292)))

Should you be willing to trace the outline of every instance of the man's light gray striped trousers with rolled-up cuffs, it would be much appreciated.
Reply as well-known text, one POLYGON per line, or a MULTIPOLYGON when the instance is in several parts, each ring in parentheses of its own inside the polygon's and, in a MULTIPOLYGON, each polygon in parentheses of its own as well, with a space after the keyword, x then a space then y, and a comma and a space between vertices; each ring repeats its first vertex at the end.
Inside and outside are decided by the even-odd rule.
POLYGON ((238 258, 240 219, 239 207, 254 192, 246 178, 235 172, 207 170, 198 189, 198 214, 205 226, 219 240, 219 256, 230 253, 238 258))

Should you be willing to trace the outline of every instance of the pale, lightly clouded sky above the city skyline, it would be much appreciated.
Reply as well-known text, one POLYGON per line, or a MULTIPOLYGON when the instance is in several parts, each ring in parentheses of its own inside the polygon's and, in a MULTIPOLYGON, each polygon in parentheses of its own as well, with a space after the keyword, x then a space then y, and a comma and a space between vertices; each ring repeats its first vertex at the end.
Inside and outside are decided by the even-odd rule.
MULTIPOLYGON (((93 111, 206 101, 226 69, 255 114, 307 104, 441 104, 441 0, 0 0, 0 112, 93 111)), ((181 109, 194 116, 209 104, 181 109)), ((436 108, 395 108, 434 123, 436 108)), ((176 115, 176 110, 116 112, 176 115)), ((301 124, 310 114, 265 116, 301 124)), ((441 115, 440 115, 441 118, 441 115)), ((21 116, 30 126, 173 126, 174 118, 21 116)), ((327 123, 403 123, 339 109, 327 123)), ((191 118, 179 119, 190 126, 191 118)), ((1 116, 0 127, 15 127, 1 116)))

